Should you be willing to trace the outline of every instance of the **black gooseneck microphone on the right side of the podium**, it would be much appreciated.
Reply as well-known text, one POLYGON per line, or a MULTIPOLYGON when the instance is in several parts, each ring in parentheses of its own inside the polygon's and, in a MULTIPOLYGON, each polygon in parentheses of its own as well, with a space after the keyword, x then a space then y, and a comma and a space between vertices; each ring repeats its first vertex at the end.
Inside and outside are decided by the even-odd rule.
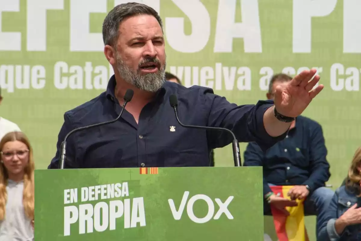
POLYGON ((169 96, 169 103, 170 106, 173 107, 174 109, 174 113, 175 113, 175 118, 177 118, 177 121, 179 123, 179 125, 186 127, 186 128, 194 128, 194 129, 205 129, 205 130, 222 130, 222 131, 226 131, 232 134, 233 136, 233 141, 232 141, 232 150, 233 150, 233 160, 234 160, 234 166, 235 167, 240 167, 241 164, 241 155, 239 154, 239 143, 238 140, 236 138, 236 136, 234 135, 234 133, 226 128, 221 128, 221 127, 209 127, 209 126, 197 126, 197 125, 183 125, 181 123, 181 121, 179 121, 178 119, 178 114, 177 114, 177 106, 178 106, 178 100, 177 100, 177 96, 170 95, 169 96))

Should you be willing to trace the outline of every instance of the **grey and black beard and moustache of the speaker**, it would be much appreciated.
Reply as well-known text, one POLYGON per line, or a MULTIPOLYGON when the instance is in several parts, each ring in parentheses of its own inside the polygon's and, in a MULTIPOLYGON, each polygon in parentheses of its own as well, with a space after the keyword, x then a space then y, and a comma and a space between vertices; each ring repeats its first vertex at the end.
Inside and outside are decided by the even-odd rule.
POLYGON ((117 52, 117 69, 119 75, 131 85, 134 85, 137 89, 156 92, 158 91, 163 84, 165 83, 165 64, 158 70, 156 73, 140 74, 140 66, 145 63, 154 62, 160 66, 160 62, 156 58, 148 58, 141 61, 138 65, 137 70, 131 69, 117 52))

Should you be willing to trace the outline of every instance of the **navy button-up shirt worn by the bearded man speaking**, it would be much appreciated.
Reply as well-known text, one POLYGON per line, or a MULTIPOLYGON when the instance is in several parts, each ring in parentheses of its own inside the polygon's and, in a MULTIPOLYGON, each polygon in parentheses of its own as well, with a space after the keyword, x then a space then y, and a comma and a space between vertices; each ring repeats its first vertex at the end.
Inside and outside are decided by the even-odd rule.
MULTIPOLYGON (((57 152, 48 168, 58 168, 60 145, 68 132, 119 115, 122 107, 114 95, 115 85, 112 76, 105 92, 64 114, 57 152)), ((138 124, 125 110, 117 122, 70 135, 65 168, 209 166, 210 150, 230 144, 232 136, 179 125, 169 104, 171 94, 178 98, 183 124, 227 128, 239 142, 255 141, 264 150, 286 136, 271 137, 264 128, 263 115, 273 106, 271 101, 237 106, 213 94, 212 89, 166 81, 155 100, 142 109, 138 124)))

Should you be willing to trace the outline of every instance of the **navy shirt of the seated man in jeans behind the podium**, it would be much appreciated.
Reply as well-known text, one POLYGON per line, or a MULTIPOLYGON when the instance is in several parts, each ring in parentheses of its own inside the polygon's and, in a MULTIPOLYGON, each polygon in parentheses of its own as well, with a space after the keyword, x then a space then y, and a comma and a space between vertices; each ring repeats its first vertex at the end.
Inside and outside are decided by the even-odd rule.
POLYGON ((244 166, 263 166, 264 194, 275 185, 308 185, 311 190, 325 186, 331 174, 322 127, 316 121, 299 116, 286 138, 263 152, 257 143, 249 143, 244 166))

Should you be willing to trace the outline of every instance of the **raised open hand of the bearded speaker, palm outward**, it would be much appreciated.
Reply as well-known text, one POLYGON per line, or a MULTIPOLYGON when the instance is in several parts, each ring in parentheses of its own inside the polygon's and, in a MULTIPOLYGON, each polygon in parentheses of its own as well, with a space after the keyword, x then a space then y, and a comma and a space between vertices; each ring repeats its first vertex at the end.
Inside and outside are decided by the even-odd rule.
POLYGON ((316 69, 304 70, 293 78, 286 87, 276 87, 274 105, 277 112, 287 117, 297 117, 306 109, 312 99, 323 89, 323 85, 313 87, 319 81, 316 69), (313 90, 312 90, 313 89, 313 90))

